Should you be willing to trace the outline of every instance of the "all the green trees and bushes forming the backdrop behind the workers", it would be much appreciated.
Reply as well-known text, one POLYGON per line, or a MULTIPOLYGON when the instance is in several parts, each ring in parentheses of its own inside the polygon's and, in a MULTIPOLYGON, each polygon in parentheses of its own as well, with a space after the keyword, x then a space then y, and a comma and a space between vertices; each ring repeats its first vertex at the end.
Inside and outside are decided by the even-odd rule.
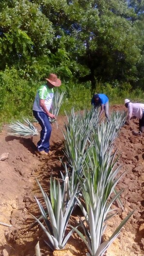
POLYGON ((94 91, 141 100, 144 0, 1 0, 0 120, 32 115, 49 73, 62 80, 63 109, 89 107, 94 91))

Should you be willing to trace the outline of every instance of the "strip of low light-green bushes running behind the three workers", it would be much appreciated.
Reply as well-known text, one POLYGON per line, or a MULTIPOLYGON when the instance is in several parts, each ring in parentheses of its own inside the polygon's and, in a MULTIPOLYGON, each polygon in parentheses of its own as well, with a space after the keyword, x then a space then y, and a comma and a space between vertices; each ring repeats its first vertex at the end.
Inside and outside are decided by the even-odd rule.
MULTIPOLYGON (((22 117, 32 118, 32 105, 36 91, 42 82, 31 79, 23 79, 15 67, 6 67, 0 72, 0 123, 22 120, 22 117)), ((112 84, 97 82, 96 90, 91 91, 91 83, 78 83, 74 80, 62 81, 59 92, 65 91, 64 102, 60 114, 90 109, 93 93, 104 93, 110 99, 110 104, 124 104, 124 99, 129 98, 133 102, 144 102, 144 92, 136 88, 132 90, 129 83, 120 84, 117 80, 112 84)), ((55 88, 54 88, 55 91, 55 88)))

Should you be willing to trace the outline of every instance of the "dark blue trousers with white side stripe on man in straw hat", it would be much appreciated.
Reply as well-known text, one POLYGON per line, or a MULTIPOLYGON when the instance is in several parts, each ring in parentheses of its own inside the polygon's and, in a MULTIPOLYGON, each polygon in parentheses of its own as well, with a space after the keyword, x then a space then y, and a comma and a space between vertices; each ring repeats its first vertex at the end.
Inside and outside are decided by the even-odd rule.
POLYGON ((42 130, 40 133, 40 140, 37 143, 37 150, 45 152, 49 151, 49 139, 51 135, 51 125, 49 123, 48 115, 45 112, 37 112, 33 110, 33 115, 40 124, 42 130))

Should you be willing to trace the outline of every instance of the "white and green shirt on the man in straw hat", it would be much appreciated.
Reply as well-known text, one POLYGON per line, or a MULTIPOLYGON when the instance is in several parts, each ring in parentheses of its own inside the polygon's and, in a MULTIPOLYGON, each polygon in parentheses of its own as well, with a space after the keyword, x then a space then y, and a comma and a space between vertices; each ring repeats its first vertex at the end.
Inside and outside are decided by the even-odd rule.
POLYGON ((46 84, 41 85, 35 96, 33 103, 33 110, 38 112, 44 112, 40 106, 40 99, 45 99, 45 105, 47 110, 51 109, 52 99, 53 99, 53 88, 49 88, 46 84))

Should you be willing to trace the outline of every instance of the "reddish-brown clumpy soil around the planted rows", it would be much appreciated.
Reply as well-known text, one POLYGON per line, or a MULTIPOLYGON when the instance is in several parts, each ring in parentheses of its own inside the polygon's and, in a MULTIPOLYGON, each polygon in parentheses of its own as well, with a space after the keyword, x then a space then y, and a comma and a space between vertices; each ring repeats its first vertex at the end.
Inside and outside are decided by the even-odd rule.
MULTIPOLYGON (((114 105, 110 111, 123 109, 123 106, 114 105)), ((64 172, 60 158, 64 157, 62 130, 65 121, 65 116, 61 116, 58 128, 55 124, 52 126, 50 144, 53 154, 47 159, 35 154, 39 135, 32 138, 11 136, 7 126, 3 126, 0 133, 0 256, 34 256, 38 240, 41 255, 52 256, 41 228, 37 224, 32 225, 31 214, 40 216, 34 195, 42 202, 36 178, 48 192, 51 172, 57 177, 60 177, 60 171, 64 172)), ((40 130, 39 125, 37 127, 40 130)), ((103 239, 110 237, 130 211, 135 211, 106 256, 144 255, 144 137, 133 136, 132 129, 138 130, 137 119, 122 127, 115 141, 115 149, 120 155, 117 166, 121 165, 120 174, 125 172, 117 184, 117 191, 123 189, 121 200, 124 210, 115 203, 113 208, 117 208, 117 215, 108 222, 103 239)), ((76 225, 80 214, 76 208, 70 220, 72 225, 76 225)), ((66 248, 69 251, 62 251, 62 255, 85 256, 87 253, 85 244, 75 233, 66 248)))

